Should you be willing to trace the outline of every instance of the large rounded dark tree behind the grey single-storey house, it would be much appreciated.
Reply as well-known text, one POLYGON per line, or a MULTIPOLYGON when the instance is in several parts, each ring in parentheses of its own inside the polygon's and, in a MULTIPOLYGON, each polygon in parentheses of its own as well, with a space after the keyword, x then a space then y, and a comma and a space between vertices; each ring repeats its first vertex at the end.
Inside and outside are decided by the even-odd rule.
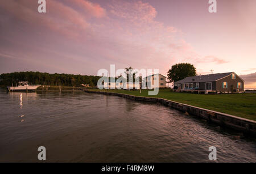
POLYGON ((168 71, 167 76, 169 82, 177 82, 186 77, 196 75, 196 68, 190 63, 179 63, 172 65, 172 68, 168 71))

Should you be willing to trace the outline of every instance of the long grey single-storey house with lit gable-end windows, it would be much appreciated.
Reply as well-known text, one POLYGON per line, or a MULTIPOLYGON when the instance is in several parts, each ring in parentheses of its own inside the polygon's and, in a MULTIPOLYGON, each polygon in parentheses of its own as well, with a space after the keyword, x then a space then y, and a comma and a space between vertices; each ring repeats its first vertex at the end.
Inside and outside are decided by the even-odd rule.
POLYGON ((205 92, 205 94, 208 94, 208 92, 243 92, 244 82, 234 72, 197 75, 174 82, 174 89, 179 91, 197 91, 198 93, 205 92))

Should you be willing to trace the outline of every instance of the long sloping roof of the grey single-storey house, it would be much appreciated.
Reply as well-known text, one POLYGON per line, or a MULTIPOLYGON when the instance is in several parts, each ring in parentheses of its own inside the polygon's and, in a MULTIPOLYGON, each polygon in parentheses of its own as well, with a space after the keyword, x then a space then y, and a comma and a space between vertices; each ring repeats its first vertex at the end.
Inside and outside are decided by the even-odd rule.
POLYGON ((192 77, 186 77, 182 80, 179 80, 174 83, 193 83, 193 82, 214 82, 218 79, 227 77, 228 75, 232 74, 230 73, 217 73, 217 74, 207 74, 207 75, 196 75, 192 77))

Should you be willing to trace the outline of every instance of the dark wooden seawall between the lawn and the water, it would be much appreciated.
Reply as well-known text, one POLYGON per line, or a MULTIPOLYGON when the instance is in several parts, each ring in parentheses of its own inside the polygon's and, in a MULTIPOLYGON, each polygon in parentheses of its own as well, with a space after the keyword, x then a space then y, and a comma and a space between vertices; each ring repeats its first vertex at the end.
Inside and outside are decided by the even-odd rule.
POLYGON ((222 127, 241 131, 245 135, 256 137, 256 121, 248 120, 246 118, 232 116, 230 114, 211 111, 204 108, 194 107, 192 105, 178 103, 176 101, 171 101, 171 100, 162 99, 162 98, 134 96, 134 95, 127 95, 127 94, 114 93, 114 92, 103 92, 103 91, 89 91, 89 90, 84 90, 84 91, 89 93, 119 96, 119 97, 131 99, 131 100, 137 100, 137 101, 160 103, 166 107, 174 108, 181 112, 187 112, 194 116, 203 118, 208 122, 214 122, 215 124, 218 124, 222 127))

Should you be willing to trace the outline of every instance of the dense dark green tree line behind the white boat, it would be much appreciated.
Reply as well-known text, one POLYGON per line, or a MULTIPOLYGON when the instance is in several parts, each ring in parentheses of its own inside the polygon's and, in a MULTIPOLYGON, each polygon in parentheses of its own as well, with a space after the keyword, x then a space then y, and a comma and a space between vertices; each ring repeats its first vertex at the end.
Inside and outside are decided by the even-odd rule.
POLYGON ((89 84, 90 87, 97 86, 101 77, 93 75, 73 75, 73 74, 49 74, 40 72, 15 72, 0 75, 1 86, 16 86, 20 81, 27 81, 30 84, 41 84, 50 86, 75 86, 89 84))

